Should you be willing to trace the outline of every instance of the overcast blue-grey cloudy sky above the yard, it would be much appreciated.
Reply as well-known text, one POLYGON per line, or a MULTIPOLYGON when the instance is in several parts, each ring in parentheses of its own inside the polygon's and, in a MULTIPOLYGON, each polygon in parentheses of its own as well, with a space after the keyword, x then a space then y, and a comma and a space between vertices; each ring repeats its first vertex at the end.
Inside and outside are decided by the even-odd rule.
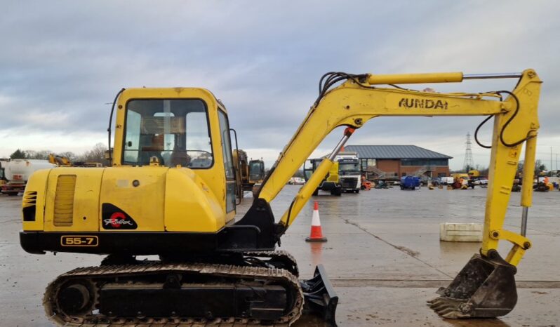
MULTIPOLYGON (((329 71, 521 72, 544 81, 538 158, 560 153, 555 1, 1 1, 0 157, 107 142, 122 87, 200 86, 229 111, 239 147, 270 166, 329 71)), ((468 81, 436 91, 510 90, 468 81)), ((418 86, 418 88, 423 86, 418 86)), ((480 117, 381 118, 352 145, 418 145, 453 156, 480 117)), ((481 134, 489 140, 488 124, 481 134)), ((342 131, 314 155, 325 154, 342 131)), ((489 150, 473 145, 474 162, 489 150)), ((560 166, 560 163, 559 165, 560 166)), ((556 162, 553 167, 556 168, 556 162)))

